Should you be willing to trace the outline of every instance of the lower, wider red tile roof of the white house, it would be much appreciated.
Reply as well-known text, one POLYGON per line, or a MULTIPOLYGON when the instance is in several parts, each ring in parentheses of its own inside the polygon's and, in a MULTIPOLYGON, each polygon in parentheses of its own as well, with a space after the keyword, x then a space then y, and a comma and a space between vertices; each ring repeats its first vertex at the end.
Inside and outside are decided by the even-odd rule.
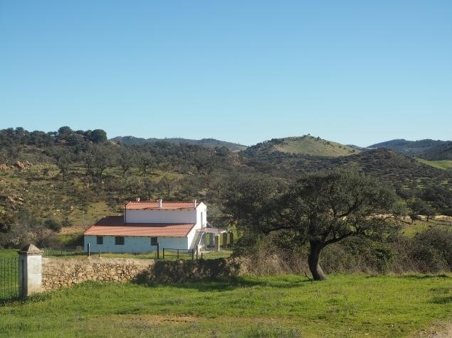
POLYGON ((122 216, 109 216, 85 231, 92 236, 185 237, 194 224, 124 223, 122 216))

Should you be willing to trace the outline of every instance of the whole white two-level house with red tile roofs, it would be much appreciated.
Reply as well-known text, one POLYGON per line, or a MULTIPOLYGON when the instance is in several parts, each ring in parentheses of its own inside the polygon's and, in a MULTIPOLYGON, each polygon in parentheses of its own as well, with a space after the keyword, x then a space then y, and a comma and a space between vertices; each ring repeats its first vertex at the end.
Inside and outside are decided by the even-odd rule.
POLYGON ((206 228, 203 202, 129 202, 122 216, 100 219, 85 231, 85 251, 142 253, 198 249, 206 228))

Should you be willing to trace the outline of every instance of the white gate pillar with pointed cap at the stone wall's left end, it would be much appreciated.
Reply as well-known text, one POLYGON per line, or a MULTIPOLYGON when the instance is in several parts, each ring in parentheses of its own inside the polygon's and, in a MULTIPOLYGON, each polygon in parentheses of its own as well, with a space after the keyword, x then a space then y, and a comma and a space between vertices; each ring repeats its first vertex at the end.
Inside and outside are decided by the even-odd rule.
POLYGON ((28 244, 19 251, 19 290, 21 297, 40 293, 42 288, 42 251, 28 244))

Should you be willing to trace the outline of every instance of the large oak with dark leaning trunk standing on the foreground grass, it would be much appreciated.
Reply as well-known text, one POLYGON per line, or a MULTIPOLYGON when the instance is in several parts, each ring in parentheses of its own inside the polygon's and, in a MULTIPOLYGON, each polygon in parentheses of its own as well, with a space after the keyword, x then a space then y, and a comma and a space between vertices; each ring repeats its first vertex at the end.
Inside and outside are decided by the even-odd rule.
POLYGON ((315 280, 324 280, 320 253, 349 236, 375 239, 396 229, 401 212, 396 195, 376 180, 352 171, 308 175, 283 197, 288 224, 309 242, 308 264, 315 280))

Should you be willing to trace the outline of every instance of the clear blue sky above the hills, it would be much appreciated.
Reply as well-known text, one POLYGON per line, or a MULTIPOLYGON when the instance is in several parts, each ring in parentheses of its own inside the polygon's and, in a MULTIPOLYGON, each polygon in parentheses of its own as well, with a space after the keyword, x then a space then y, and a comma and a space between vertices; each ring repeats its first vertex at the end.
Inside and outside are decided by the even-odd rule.
POLYGON ((452 139, 452 1, 0 0, 0 128, 452 139))

